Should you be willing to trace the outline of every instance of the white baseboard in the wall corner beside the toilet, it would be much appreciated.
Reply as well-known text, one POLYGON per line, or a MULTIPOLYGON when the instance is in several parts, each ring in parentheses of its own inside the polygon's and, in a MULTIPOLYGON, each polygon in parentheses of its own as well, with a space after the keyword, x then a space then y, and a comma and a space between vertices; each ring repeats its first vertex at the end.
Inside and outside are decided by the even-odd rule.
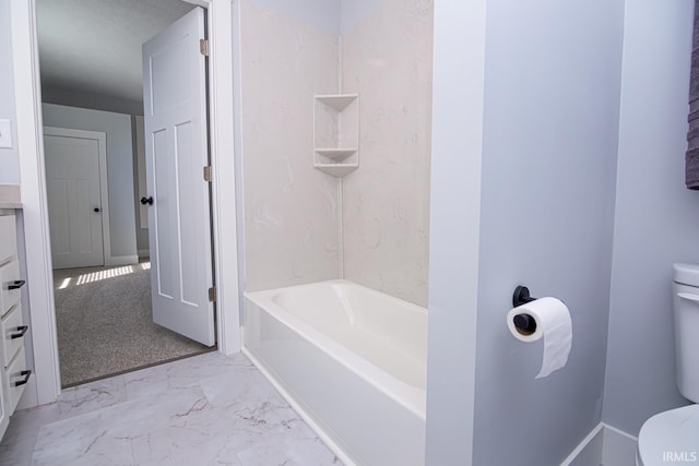
POLYGON ((635 466, 638 439, 600 422, 560 466, 635 466))

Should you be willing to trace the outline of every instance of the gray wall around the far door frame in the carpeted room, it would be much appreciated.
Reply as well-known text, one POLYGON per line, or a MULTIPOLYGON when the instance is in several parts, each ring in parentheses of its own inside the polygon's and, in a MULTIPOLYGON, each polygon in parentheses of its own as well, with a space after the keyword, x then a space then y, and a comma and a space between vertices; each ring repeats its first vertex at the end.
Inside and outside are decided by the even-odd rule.
POLYGON ((137 255, 131 117, 52 104, 44 104, 43 111, 46 127, 107 133, 111 255, 137 255))

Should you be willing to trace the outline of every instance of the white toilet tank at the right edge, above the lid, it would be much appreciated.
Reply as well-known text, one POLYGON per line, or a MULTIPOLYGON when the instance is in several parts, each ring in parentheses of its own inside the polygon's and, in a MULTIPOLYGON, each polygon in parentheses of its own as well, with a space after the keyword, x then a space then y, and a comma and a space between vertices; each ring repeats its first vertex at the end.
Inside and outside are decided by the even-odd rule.
POLYGON ((699 265, 674 264, 673 270, 677 387, 699 403, 699 265))

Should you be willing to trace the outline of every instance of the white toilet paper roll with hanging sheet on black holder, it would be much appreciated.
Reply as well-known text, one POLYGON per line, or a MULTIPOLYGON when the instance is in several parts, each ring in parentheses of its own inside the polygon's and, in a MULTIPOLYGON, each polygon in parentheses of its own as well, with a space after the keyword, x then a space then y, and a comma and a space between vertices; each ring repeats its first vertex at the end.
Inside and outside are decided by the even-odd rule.
POLYGON ((572 322, 568 307, 561 300, 546 297, 518 306, 507 313, 507 326, 524 343, 544 337, 542 369, 534 379, 545 378, 566 366, 572 342, 572 322), (528 330, 516 326, 516 320, 522 326, 528 318, 533 319, 535 326, 530 325, 528 330))

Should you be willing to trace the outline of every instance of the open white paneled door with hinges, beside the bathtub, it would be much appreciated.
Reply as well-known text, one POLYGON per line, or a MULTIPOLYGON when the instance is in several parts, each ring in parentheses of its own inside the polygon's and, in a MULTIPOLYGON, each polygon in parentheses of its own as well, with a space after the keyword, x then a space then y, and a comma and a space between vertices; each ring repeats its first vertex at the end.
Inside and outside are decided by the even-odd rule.
POLYGON ((143 104, 153 321, 211 346, 203 38, 204 10, 197 7, 143 45, 143 104))

